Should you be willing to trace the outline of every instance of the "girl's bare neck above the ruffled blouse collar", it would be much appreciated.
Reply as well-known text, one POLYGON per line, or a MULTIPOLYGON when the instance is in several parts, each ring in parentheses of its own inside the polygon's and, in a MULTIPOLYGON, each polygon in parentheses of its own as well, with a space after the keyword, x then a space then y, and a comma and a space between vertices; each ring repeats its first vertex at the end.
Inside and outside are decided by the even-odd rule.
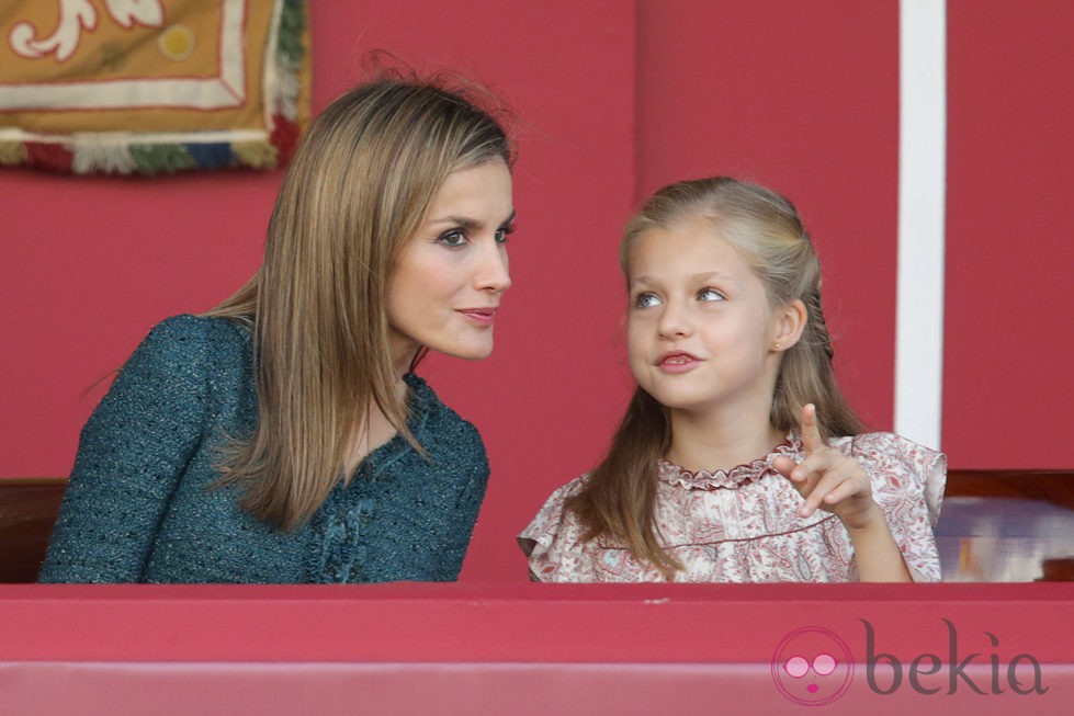
POLYGON ((672 410, 667 459, 694 473, 730 470, 767 456, 784 437, 767 414, 721 421, 672 410))

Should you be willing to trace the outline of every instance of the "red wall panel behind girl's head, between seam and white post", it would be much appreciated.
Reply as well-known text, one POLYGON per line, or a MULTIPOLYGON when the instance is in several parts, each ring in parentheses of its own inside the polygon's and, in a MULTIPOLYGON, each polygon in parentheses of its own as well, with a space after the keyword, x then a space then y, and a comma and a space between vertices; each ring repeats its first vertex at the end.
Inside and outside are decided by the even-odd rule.
POLYGON ((731 174, 793 201, 824 263, 839 377, 892 429, 898 3, 638 3, 640 197, 731 174))

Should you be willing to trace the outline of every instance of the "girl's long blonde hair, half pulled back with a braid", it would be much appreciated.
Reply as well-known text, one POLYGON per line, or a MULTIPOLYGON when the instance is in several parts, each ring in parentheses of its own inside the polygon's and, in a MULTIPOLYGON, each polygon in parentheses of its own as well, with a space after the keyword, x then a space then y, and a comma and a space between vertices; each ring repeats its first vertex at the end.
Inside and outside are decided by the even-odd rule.
MULTIPOLYGON (((776 192, 726 177, 678 182, 659 190, 628 224, 620 265, 630 275, 637 240, 693 217, 712 223, 764 283, 769 305, 802 300, 809 312, 798 343, 782 353, 770 421, 780 432, 798 427, 802 408, 816 406, 825 440, 856 435, 863 425, 836 384, 833 350, 821 306, 821 263, 794 206, 776 192)), ((681 565, 660 544, 655 522, 659 461, 671 445, 668 410, 641 387, 626 408, 603 461, 566 501, 586 525, 586 539, 607 537, 670 579, 681 565)))

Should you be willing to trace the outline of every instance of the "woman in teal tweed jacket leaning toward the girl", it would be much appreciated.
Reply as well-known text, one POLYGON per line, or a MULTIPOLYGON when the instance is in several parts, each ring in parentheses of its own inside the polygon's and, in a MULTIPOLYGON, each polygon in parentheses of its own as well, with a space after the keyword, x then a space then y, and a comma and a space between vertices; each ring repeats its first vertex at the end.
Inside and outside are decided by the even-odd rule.
POLYGON ((412 368, 493 349, 511 162, 465 91, 332 102, 253 279, 154 328, 90 418, 41 580, 455 579, 488 464, 412 368))

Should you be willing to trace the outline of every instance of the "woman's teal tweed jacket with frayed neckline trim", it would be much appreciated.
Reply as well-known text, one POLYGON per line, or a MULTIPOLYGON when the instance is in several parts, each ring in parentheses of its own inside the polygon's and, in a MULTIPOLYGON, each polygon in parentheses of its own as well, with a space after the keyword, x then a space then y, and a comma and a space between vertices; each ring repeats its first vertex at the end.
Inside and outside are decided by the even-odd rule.
POLYGON ((249 331, 154 328, 82 430, 43 582, 382 582, 459 576, 485 493, 477 430, 407 375, 411 432, 375 450, 305 526, 279 532, 217 488, 225 435, 257 421, 249 331))

